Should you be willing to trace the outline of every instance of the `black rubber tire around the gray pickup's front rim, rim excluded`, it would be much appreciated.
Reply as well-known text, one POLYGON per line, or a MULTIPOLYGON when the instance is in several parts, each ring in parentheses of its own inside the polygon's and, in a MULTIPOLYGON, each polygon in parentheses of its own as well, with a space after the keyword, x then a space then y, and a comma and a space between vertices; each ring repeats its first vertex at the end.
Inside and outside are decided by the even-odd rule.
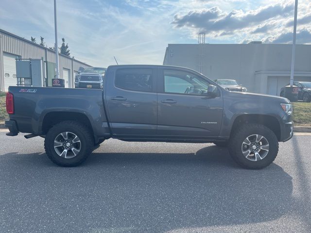
POLYGON ((239 129, 232 133, 228 150, 233 160, 240 166, 248 169, 261 169, 270 165, 276 158, 278 152, 278 141, 275 133, 264 125, 249 123, 242 125, 239 129), (253 134, 260 134, 269 143, 269 151, 264 158, 258 161, 247 159, 242 153, 243 141, 253 134))

